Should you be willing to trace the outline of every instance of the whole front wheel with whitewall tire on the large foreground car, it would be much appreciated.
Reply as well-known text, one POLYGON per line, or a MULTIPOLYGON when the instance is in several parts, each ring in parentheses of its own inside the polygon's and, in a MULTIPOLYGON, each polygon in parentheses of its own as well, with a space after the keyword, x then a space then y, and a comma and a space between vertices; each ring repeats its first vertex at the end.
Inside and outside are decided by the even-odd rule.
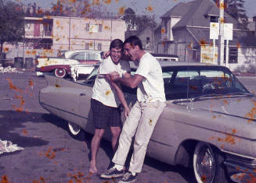
POLYGON ((215 147, 207 143, 197 143, 193 153, 193 171, 198 183, 229 182, 224 157, 215 147))

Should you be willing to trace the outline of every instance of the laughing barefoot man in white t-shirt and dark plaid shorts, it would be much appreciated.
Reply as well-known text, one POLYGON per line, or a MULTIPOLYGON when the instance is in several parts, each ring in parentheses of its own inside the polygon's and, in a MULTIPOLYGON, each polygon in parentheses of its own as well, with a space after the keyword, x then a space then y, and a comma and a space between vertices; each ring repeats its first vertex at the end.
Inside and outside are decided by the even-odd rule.
POLYGON ((96 128, 91 143, 89 172, 92 174, 97 173, 96 155, 106 127, 110 127, 112 147, 115 150, 117 139, 121 132, 121 115, 120 108, 118 107, 120 103, 124 106, 125 116, 129 112, 128 105, 124 99, 124 93, 121 91, 118 83, 111 83, 106 79, 107 74, 110 72, 116 72, 120 77, 124 78, 131 77, 129 63, 121 60, 122 50, 122 40, 115 39, 111 41, 110 57, 100 63, 96 82, 92 88, 91 108, 96 128))

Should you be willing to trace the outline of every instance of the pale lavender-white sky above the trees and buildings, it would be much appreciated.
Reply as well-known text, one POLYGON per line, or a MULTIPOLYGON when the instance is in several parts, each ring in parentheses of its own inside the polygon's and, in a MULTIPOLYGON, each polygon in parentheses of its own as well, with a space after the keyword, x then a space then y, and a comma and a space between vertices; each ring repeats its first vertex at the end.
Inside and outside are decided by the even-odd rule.
MULTIPOLYGON (((20 2, 36 2, 41 8, 50 8, 51 3, 56 3, 57 0, 17 0, 20 2)), ((74 0, 73 0, 74 1, 74 0)), ((92 0, 91 0, 92 1, 92 0)), ((100 3, 104 3, 110 0, 99 0, 100 3)), ((119 8, 124 6, 125 8, 131 7, 135 10, 137 15, 148 14, 156 16, 162 16, 165 12, 171 9, 178 2, 189 2, 191 0, 112 0, 106 7, 112 12, 118 12, 119 8), (147 7, 153 7, 153 12, 146 10, 147 7)), ((70 0, 72 2, 72 0, 70 0)), ((248 17, 256 16, 256 0, 245 0, 244 7, 247 11, 248 17)))

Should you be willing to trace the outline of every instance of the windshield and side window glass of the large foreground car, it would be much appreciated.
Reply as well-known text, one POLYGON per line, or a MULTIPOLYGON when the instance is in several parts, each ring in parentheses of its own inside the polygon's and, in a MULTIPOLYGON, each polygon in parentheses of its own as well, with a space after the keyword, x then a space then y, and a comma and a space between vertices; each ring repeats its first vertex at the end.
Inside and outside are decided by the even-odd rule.
POLYGON ((167 100, 251 94, 221 66, 179 66, 163 70, 167 100))

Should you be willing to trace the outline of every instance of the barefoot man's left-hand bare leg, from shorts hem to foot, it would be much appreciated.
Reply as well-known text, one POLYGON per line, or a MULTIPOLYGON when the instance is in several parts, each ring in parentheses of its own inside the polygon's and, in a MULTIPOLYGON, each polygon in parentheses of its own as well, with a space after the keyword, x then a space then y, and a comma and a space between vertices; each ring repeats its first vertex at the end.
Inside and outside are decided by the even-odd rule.
POLYGON ((95 130, 95 134, 92 138, 91 143, 91 161, 90 161, 90 167, 89 167, 89 173, 96 174, 98 172, 96 168, 96 156, 99 150, 99 144, 100 140, 103 138, 103 134, 105 132, 105 129, 100 128, 95 130))

